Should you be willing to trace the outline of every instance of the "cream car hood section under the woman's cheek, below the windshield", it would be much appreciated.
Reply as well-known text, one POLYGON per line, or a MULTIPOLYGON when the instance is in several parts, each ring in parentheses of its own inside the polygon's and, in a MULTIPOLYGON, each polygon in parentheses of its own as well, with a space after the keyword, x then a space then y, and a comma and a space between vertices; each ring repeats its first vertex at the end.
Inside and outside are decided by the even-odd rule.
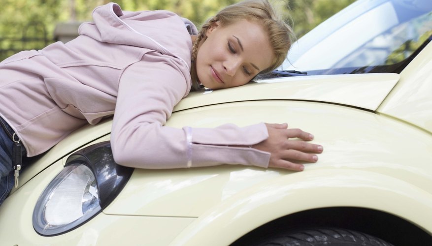
POLYGON ((188 108, 249 100, 307 100, 376 110, 399 81, 396 73, 295 76, 260 80, 247 85, 193 92, 175 106, 188 108))

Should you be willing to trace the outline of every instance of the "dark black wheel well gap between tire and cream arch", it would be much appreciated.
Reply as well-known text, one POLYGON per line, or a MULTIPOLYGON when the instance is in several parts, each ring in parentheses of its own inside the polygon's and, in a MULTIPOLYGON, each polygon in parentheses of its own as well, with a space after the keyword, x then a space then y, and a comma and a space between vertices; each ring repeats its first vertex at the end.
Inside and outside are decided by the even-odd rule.
POLYGON ((432 236, 410 222, 384 212, 353 207, 302 211, 270 221, 235 241, 254 245, 263 238, 299 228, 339 227, 381 238, 394 246, 432 245, 432 236))

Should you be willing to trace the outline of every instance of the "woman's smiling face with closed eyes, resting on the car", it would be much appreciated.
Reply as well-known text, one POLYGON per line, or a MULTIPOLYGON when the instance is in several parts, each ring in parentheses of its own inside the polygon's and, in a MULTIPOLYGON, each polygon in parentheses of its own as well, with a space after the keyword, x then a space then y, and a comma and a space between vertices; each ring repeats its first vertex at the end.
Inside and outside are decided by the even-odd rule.
POLYGON ((196 64, 198 79, 207 88, 244 85, 274 59, 266 31, 258 23, 241 20, 223 27, 216 22, 206 36, 196 64))

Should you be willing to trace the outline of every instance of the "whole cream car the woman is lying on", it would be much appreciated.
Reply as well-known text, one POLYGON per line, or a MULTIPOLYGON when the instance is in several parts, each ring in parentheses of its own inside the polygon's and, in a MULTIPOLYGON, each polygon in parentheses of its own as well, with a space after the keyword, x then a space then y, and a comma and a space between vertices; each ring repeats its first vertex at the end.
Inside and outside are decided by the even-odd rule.
POLYGON ((287 122, 325 148, 305 171, 124 168, 106 120, 20 175, 0 245, 432 245, 431 11, 356 1, 271 78, 191 93, 166 124, 287 122))

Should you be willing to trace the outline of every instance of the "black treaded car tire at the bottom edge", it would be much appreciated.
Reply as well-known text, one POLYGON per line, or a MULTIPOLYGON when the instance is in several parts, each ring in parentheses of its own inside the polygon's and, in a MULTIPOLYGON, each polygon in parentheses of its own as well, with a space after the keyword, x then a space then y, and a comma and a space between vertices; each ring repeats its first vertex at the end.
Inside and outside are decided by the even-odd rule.
POLYGON ((279 234, 258 246, 393 246, 362 232, 340 228, 315 228, 279 234))

